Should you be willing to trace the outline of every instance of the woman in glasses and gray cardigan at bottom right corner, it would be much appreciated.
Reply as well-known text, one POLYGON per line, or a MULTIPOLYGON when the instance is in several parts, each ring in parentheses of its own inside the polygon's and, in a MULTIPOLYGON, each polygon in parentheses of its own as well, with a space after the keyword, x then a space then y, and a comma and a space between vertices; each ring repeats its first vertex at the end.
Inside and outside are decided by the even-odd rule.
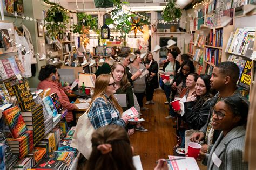
POLYGON ((242 98, 230 96, 218 102, 212 112, 212 127, 221 130, 210 154, 200 151, 208 169, 248 169, 242 161, 248 105, 242 98))

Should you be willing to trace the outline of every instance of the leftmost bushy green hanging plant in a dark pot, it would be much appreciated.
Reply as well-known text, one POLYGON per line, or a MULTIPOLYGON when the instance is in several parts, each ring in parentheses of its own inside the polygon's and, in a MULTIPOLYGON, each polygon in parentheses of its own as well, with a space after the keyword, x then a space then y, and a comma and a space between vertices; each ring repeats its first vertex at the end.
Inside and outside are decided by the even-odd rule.
POLYGON ((44 19, 47 34, 54 39, 58 34, 63 34, 69 22, 69 16, 59 4, 51 6, 44 19))

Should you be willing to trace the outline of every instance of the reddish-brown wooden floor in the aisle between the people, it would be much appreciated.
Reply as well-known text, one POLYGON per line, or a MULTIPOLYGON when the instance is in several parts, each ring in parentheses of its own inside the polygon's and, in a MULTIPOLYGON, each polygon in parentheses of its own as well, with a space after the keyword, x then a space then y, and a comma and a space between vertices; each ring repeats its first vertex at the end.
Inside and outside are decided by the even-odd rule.
MULTIPOLYGON (((131 145, 134 147, 134 155, 140 155, 143 169, 154 169, 156 160, 168 158, 172 155, 172 147, 176 144, 176 129, 172 119, 165 119, 168 116, 167 104, 164 104, 166 97, 163 90, 154 92, 153 101, 155 104, 144 105, 149 110, 142 111, 142 118, 145 121, 143 127, 148 132, 136 131, 130 136, 131 145)), ((146 98, 144 98, 144 103, 146 98)))

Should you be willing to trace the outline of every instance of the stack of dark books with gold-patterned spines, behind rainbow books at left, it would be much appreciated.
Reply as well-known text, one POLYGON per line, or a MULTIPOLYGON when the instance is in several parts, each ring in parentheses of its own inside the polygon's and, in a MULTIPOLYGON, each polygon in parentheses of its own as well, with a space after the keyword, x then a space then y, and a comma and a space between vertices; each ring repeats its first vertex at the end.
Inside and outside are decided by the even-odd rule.
POLYGON ((31 109, 21 112, 21 114, 26 128, 33 131, 34 145, 36 145, 43 139, 45 133, 43 106, 37 104, 31 109))

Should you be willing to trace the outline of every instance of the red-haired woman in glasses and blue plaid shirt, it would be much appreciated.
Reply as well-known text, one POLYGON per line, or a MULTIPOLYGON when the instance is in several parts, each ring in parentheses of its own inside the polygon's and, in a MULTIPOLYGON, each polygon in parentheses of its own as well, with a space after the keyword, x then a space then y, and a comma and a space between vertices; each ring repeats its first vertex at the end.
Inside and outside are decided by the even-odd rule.
POLYGON ((130 116, 121 118, 122 107, 118 104, 114 93, 116 83, 110 75, 99 75, 95 82, 92 105, 88 112, 88 118, 95 129, 109 124, 117 124, 125 127, 130 116))

